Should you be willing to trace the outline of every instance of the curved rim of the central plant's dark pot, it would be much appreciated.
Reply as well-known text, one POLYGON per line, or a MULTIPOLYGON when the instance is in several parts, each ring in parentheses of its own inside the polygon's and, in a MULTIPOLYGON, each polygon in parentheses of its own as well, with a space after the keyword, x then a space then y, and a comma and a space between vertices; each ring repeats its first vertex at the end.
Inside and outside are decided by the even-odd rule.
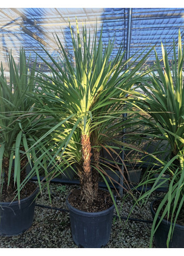
MULTIPOLYGON (((80 188, 78 189, 80 190, 80 188)), ((100 190, 104 190, 103 188, 100 188, 100 190)), ((104 190, 104 191, 108 191, 108 190, 104 190)), ((109 191, 108 191, 109 192, 109 191)), ((70 205, 70 203, 68 202, 68 197, 69 195, 71 194, 72 192, 70 192, 67 197, 66 197, 66 204, 69 208, 69 210, 72 210, 72 212, 76 213, 76 214, 80 214, 82 216, 92 216, 92 217, 99 217, 99 216, 102 216, 102 215, 105 215, 109 210, 115 208, 115 205, 113 204, 111 207, 109 207, 108 209, 106 210, 102 210, 101 212, 95 212, 95 213, 92 213, 92 212, 84 212, 83 210, 79 210, 75 207, 73 207, 72 205, 70 205)), ((114 195, 113 195, 114 196, 114 195)), ((114 196, 114 199, 115 199, 115 202, 116 202, 116 197, 114 196)))

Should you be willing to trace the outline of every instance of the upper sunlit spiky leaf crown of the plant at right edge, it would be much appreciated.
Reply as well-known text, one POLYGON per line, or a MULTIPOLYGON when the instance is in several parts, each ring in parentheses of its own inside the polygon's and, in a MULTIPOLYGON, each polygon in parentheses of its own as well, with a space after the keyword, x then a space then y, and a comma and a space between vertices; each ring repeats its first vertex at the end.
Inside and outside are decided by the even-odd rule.
POLYGON ((150 128, 150 132, 146 130, 146 134, 150 133, 152 138, 165 140, 169 144, 168 159, 175 157, 179 152, 183 152, 184 142, 182 75, 184 52, 182 51, 180 32, 178 54, 176 53, 175 42, 173 43, 173 51, 174 59, 169 63, 167 51, 162 44, 164 66, 161 66, 155 51, 155 72, 152 72, 152 75, 146 79, 147 81, 139 86, 143 93, 132 92, 136 96, 135 105, 150 117, 144 118, 138 113, 141 123, 150 128))

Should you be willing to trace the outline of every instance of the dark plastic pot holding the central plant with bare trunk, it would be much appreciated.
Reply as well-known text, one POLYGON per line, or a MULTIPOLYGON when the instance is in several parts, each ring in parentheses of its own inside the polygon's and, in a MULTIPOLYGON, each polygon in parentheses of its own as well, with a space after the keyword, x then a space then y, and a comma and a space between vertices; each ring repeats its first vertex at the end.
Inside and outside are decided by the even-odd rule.
POLYGON ((69 204, 68 196, 66 204, 70 213, 73 241, 82 248, 102 248, 105 246, 111 235, 115 206, 97 213, 82 212, 69 204))

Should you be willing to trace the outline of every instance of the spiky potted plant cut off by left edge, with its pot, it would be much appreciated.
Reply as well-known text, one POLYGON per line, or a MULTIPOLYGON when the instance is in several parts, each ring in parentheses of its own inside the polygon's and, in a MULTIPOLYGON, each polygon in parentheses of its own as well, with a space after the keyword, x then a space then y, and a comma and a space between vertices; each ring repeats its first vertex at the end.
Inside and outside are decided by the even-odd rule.
MULTIPOLYGON (((2 236, 18 235, 32 225, 34 198, 38 194, 38 188, 29 180, 34 173, 39 175, 41 158, 36 157, 35 150, 39 149, 40 145, 37 144, 37 147, 34 143, 38 141, 42 132, 45 133, 46 123, 40 106, 27 96, 27 93, 36 90, 34 81, 36 64, 33 63, 31 69, 29 64, 30 58, 27 61, 24 50, 20 49, 18 65, 11 53, 8 55, 8 78, 5 76, 3 64, 0 68, 0 235, 2 236), (29 175, 26 174, 28 163, 32 166, 29 175)), ((44 143, 41 145, 41 148, 43 147, 44 143)))

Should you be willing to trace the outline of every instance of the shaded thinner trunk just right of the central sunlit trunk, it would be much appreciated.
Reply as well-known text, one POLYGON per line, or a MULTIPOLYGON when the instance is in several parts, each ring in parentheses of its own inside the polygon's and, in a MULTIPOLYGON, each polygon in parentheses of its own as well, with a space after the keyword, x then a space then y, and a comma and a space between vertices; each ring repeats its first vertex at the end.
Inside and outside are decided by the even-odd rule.
MULTIPOLYGON (((97 149, 93 149, 93 157, 96 168, 99 168, 100 152, 97 149)), ((96 198, 99 189, 99 172, 95 168, 92 171, 92 182, 94 198, 96 198)))

